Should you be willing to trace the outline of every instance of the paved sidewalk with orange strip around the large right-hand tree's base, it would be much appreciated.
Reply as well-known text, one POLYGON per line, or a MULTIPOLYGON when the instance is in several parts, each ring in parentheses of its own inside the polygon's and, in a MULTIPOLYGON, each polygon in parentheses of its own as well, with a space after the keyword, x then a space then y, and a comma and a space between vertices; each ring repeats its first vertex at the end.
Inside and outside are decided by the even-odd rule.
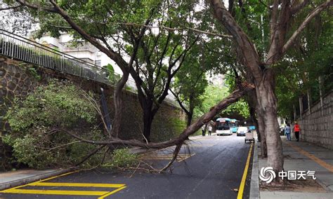
MULTIPOLYGON (((261 151, 258 146, 260 146, 260 143, 256 144, 255 147, 259 154, 259 167, 255 168, 254 164, 252 169, 259 172, 261 167, 266 167, 267 159, 260 158, 261 151)), ((286 137, 282 137, 282 147, 285 157, 284 169, 286 171, 315 171, 315 177, 317 177, 315 180, 322 186, 323 190, 320 193, 310 191, 259 191, 260 198, 333 198, 333 151, 307 142, 290 142, 286 140, 286 137)), ((256 174, 256 176, 258 178, 259 175, 256 174)))

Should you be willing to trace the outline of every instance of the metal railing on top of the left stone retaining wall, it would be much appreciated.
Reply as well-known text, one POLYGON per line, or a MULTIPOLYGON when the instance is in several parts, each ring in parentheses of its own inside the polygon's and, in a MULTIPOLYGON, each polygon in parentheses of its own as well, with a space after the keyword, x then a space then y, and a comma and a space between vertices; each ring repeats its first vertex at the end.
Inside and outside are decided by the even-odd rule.
MULTIPOLYGON (((0 55, 107 85, 116 85, 122 76, 4 29, 0 29, 0 55)), ((135 81, 129 79, 126 85, 131 88, 131 92, 136 93, 135 81)), ((171 97, 166 97, 165 101, 179 107, 171 97)))

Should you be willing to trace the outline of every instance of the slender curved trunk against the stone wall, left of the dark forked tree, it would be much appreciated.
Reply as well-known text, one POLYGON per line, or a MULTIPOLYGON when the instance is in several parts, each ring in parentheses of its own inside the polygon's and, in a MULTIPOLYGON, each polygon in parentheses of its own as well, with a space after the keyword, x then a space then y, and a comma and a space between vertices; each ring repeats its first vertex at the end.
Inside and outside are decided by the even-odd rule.
POLYGON ((122 78, 120 78, 113 94, 113 103, 115 105, 115 118, 112 122, 112 137, 118 137, 120 128, 122 125, 122 112, 123 112, 123 98, 122 98, 122 88, 126 84, 129 78, 129 73, 124 73, 122 78))

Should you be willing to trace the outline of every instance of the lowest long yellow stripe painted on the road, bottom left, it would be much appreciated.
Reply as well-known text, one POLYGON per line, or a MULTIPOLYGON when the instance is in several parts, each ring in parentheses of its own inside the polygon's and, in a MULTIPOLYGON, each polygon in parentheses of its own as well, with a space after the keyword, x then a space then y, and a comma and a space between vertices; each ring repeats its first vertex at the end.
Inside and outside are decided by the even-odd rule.
POLYGON ((67 190, 37 190, 37 189, 13 189, 3 193, 24 193, 24 194, 46 194, 46 195, 105 195, 109 191, 67 191, 67 190))

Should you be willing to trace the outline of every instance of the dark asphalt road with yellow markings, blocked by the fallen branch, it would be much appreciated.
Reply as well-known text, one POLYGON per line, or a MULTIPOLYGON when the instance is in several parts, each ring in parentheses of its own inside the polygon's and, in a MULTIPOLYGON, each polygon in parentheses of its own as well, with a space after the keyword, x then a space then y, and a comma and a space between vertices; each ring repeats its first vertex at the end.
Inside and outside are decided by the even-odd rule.
MULTIPOLYGON (((172 172, 73 172, 0 193, 0 198, 237 198, 234 189, 240 188, 250 145, 236 135, 200 137, 181 149, 172 172)), ((161 168, 171 153, 169 148, 143 158, 161 168)), ((251 168, 243 198, 249 198, 251 168)))

